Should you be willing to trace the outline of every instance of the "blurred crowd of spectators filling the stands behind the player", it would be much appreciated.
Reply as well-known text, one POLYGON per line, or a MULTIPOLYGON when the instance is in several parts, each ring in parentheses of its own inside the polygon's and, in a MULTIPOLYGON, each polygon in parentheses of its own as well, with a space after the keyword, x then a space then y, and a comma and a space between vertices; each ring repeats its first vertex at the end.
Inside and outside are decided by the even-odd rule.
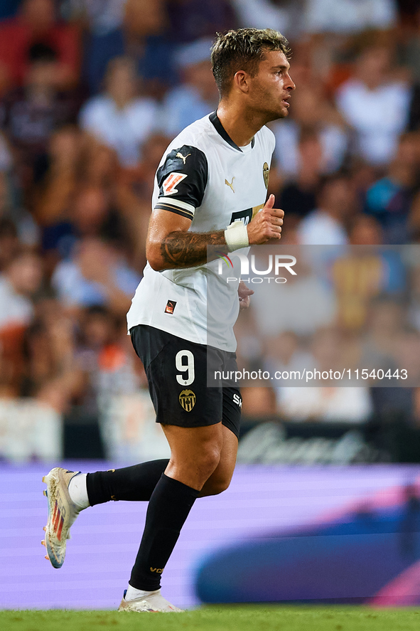
MULTIPOLYGON (((293 51, 290 115, 271 125, 282 243, 420 242, 417 0, 3 0, 1 398, 92 414, 113 393, 145 387, 125 314, 145 264, 154 173, 168 142, 217 107, 210 46, 240 26, 276 28, 293 51)), ((407 282, 419 301, 409 317, 379 287, 370 317, 319 322, 313 353, 329 361, 334 336, 354 333, 356 317, 372 336, 370 360, 383 351, 415 364, 418 269, 407 282)), ((256 313, 238 327, 244 365, 261 352, 270 360, 247 332, 256 313)), ((302 332, 267 331, 276 361, 299 361, 302 332)), ((244 413, 362 420, 400 405, 420 425, 420 391, 394 390, 313 388, 305 398, 254 388, 244 413)))

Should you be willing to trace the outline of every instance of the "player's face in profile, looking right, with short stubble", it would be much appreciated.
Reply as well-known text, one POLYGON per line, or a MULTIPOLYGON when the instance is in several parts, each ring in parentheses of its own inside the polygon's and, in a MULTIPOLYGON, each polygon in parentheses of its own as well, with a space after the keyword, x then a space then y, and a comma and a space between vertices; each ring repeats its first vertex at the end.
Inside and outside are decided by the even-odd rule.
POLYGON ((264 115, 266 122, 286 117, 295 84, 289 75, 289 62, 281 51, 264 54, 258 73, 249 80, 249 105, 264 115))

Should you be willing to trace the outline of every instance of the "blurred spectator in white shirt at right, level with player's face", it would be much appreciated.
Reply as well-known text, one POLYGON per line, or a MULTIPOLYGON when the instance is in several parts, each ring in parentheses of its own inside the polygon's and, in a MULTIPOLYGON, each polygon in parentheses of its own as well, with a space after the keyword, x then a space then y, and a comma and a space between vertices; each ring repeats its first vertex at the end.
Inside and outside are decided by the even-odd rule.
POLYGON ((357 58, 355 77, 337 91, 338 110, 353 129, 353 153, 386 166, 408 122, 411 88, 395 73, 392 46, 368 44, 357 58))

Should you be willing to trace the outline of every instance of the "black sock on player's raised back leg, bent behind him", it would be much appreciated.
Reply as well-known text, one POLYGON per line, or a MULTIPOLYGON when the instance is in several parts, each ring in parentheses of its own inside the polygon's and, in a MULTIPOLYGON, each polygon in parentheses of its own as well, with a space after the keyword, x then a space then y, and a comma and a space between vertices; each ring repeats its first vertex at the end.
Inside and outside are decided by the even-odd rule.
POLYGON ((88 473, 87 497, 90 506, 124 499, 128 502, 149 502, 169 460, 151 460, 140 465, 88 473))

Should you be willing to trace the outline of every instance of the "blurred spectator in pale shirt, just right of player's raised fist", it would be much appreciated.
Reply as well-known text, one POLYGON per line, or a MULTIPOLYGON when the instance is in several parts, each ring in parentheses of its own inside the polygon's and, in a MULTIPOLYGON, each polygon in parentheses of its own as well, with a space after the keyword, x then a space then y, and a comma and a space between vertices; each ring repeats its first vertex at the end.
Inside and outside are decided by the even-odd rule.
POLYGON ((318 208, 297 228, 301 245, 345 245, 346 223, 357 213, 357 199, 350 178, 344 174, 328 176, 318 193, 318 208))

